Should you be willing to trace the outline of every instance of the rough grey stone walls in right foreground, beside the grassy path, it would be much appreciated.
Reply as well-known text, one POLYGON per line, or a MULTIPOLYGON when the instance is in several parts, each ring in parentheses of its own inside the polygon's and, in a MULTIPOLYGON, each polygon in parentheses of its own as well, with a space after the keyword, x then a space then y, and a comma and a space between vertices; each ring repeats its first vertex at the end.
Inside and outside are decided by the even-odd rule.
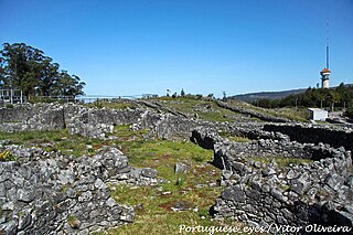
POLYGON ((214 163, 223 169, 222 184, 227 188, 213 207, 216 217, 264 227, 353 226, 352 157, 343 147, 263 139, 233 143, 210 129, 194 130, 192 137, 214 149, 214 163), (279 167, 282 157, 313 161, 279 167))

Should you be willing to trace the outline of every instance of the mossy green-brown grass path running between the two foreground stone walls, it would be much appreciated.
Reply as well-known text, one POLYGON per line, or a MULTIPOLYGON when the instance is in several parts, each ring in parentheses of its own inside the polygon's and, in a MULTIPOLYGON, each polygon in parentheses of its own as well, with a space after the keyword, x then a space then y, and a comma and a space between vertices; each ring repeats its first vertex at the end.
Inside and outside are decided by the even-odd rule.
POLYGON ((115 185, 113 195, 120 204, 136 207, 136 221, 108 234, 186 234, 186 226, 239 226, 237 222, 212 221, 208 210, 223 188, 216 185, 220 170, 207 163, 213 152, 184 141, 133 141, 124 145, 122 151, 130 163, 140 168, 154 168, 167 182, 156 186, 115 185), (174 173, 174 164, 183 162, 190 168, 185 173, 174 173), (190 204, 188 211, 174 212, 178 203, 190 204))

